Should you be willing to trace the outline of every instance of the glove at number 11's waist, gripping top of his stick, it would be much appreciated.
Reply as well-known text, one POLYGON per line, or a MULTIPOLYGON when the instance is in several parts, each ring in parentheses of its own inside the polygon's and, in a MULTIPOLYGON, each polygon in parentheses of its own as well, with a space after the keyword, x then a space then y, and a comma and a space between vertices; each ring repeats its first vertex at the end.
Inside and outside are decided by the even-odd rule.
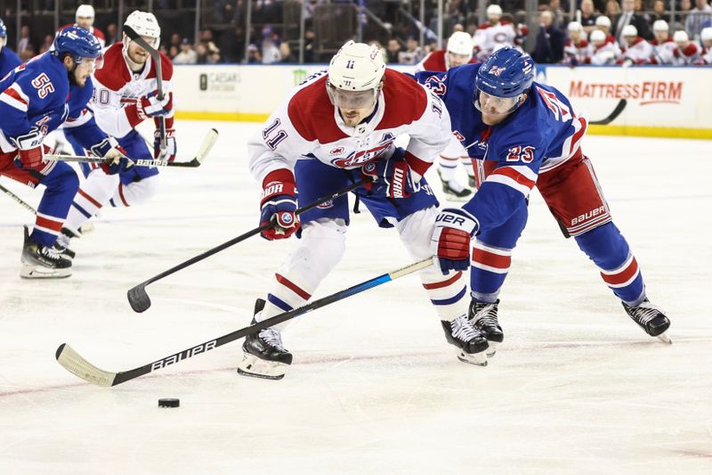
POLYGON ((413 180, 401 147, 387 159, 368 162, 361 167, 361 175, 375 182, 365 186, 369 192, 384 194, 388 198, 408 198, 420 190, 419 180, 413 180))

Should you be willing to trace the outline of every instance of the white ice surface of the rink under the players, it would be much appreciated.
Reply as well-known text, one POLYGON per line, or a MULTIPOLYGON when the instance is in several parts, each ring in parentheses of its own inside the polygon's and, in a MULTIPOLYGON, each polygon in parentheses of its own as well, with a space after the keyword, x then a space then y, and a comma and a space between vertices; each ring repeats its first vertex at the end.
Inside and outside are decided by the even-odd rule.
MULTIPOLYGON (((256 124, 182 121, 179 155, 212 126, 203 167, 166 169, 148 205, 101 212, 73 243, 69 279, 20 279, 33 217, 0 195, 0 473, 712 473, 703 141, 584 143, 672 346, 627 317, 535 193, 501 296, 505 344, 486 368, 457 361, 409 275, 298 318, 282 381, 239 376, 241 341, 111 389, 66 372, 62 342, 125 371, 250 322, 291 242, 255 237, 153 283, 144 314, 125 295, 257 225, 245 151, 256 124)), ((39 192, 2 184, 36 205, 39 192)), ((407 264, 364 210, 317 296, 407 264)))

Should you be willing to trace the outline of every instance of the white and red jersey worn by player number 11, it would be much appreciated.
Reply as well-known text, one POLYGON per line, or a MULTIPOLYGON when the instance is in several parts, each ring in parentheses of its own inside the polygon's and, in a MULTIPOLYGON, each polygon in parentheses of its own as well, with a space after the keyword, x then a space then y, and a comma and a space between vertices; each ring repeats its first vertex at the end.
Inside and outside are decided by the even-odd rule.
POLYGON ((359 168, 389 157, 396 137, 408 134, 406 160, 411 172, 423 176, 452 135, 441 99, 408 76, 385 70, 376 111, 368 122, 349 127, 329 101, 326 73, 307 78, 249 140, 252 175, 262 183, 272 171, 294 171, 299 159, 359 168))

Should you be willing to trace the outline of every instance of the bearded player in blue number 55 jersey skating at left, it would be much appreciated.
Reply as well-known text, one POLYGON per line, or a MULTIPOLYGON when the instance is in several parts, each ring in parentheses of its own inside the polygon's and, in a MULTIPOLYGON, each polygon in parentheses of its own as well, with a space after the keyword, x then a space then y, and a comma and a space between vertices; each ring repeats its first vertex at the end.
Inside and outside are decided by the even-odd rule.
POLYGON ((85 29, 71 27, 55 37, 53 51, 0 80, 0 175, 32 188, 45 186, 32 233, 25 228, 21 277, 71 274, 73 253, 55 244, 79 180, 66 163, 44 160, 50 152, 44 136, 68 121, 77 126, 73 131, 77 140, 107 159, 107 169, 117 173, 129 165, 116 140, 85 111, 93 93, 90 75, 101 67, 101 59, 97 39, 85 29))

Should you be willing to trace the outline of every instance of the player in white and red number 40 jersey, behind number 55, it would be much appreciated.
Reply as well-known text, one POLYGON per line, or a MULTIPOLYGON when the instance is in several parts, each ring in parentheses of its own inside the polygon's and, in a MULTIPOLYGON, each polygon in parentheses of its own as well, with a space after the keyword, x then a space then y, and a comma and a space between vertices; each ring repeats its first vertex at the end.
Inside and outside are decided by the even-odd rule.
MULTIPOLYGON (((149 45, 158 48, 160 27, 156 17, 149 12, 132 12, 125 24, 136 31, 149 45)), ((158 157, 158 120, 166 120, 166 156, 174 160, 176 152, 173 93, 171 78, 173 65, 161 53, 161 77, 165 96, 158 99, 156 64, 140 45, 124 35, 123 42, 109 46, 104 52, 104 69, 93 77, 94 95, 88 107, 97 124, 118 143, 132 159, 150 160, 158 157), (146 145, 142 135, 135 129, 145 119, 154 119, 156 133, 153 150, 146 145)), ((84 152, 72 140, 71 124, 65 126, 65 135, 77 153, 84 152)), ((86 176, 69 209, 69 217, 62 231, 62 244, 68 237, 78 235, 78 229, 93 217, 103 206, 128 207, 148 201, 157 191, 158 168, 133 167, 117 175, 108 175, 96 165, 82 166, 86 176)))

